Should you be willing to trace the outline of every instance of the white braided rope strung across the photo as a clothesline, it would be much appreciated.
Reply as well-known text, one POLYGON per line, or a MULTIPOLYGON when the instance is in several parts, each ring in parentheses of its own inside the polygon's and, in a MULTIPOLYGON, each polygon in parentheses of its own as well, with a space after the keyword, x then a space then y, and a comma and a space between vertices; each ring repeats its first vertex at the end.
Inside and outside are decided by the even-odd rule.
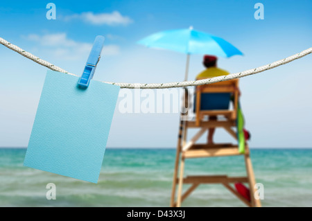
MULTIPOLYGON (((27 51, 24 51, 23 49, 19 48, 18 46, 11 44, 10 42, 7 42, 5 39, 0 37, 0 43, 6 46, 7 48, 10 48, 13 51, 16 51, 17 53, 23 55, 24 57, 33 60, 34 62, 37 62, 38 64, 43 65, 44 67, 47 67, 48 69, 51 69, 53 71, 59 71, 62 73, 67 73, 72 76, 77 76, 76 74, 69 73, 68 71, 65 71, 64 69, 61 69, 60 67, 55 66, 54 64, 51 64, 50 62, 46 62, 45 60, 42 60, 41 58, 38 58, 37 56, 28 53, 27 51)), ((184 82, 170 82, 170 83, 163 83, 163 84, 140 84, 140 83, 116 83, 116 82, 105 82, 107 84, 111 85, 118 85, 121 88, 139 88, 139 89, 162 89, 162 88, 171 88, 171 87, 189 87, 189 86, 198 86, 198 85, 207 85, 212 84, 215 82, 220 82, 224 80, 232 80, 234 78, 243 78, 245 76, 250 76, 255 73, 260 73, 269 69, 274 69, 275 67, 279 67, 280 65, 287 64, 289 62, 292 62, 293 60, 297 60, 299 58, 302 58, 306 55, 309 55, 312 53, 312 48, 308 48, 300 53, 297 53, 295 55, 289 56, 288 58, 284 58, 282 60, 278 60, 276 62, 272 62, 270 64, 263 65, 261 67, 257 67, 256 69, 249 69, 247 71, 237 72, 237 73, 230 73, 227 76, 218 76, 215 78, 207 78, 202 80, 191 80, 191 81, 184 81, 184 82)))

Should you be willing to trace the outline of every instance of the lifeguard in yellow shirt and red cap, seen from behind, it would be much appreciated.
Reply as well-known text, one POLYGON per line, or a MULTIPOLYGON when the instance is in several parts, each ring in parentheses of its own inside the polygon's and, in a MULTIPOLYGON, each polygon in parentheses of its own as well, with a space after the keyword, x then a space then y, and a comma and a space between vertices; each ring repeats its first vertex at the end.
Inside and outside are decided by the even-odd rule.
MULTIPOLYGON (((227 76, 229 72, 219 69, 217 67, 217 58, 216 56, 211 56, 211 55, 205 55, 204 60, 202 62, 204 66, 207 68, 205 71, 202 71, 201 73, 196 76, 196 80, 200 79, 205 79, 205 78, 214 78, 218 76, 227 76)), ((216 116, 209 116, 209 121, 216 121, 216 116)), ((213 137, 214 137, 214 132, 216 128, 210 127, 208 131, 208 136, 207 136, 207 142, 208 144, 214 143, 213 137)))

